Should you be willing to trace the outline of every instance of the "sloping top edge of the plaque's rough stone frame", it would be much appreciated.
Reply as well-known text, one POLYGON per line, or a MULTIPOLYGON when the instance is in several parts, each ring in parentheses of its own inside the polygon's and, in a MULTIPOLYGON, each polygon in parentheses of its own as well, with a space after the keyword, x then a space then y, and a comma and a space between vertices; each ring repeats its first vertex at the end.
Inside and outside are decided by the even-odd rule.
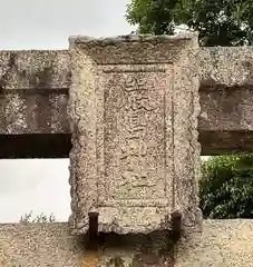
POLYGON ((70 37, 72 44, 84 46, 87 56, 98 65, 172 63, 181 57, 183 48, 192 39, 182 36, 119 36, 115 38, 70 37), (130 46, 129 46, 130 44, 130 46), (120 50, 118 47, 120 46, 120 50), (139 46, 145 49, 139 49, 139 46), (156 47, 156 53, 149 53, 156 47), (166 49, 164 49, 166 46, 166 49), (88 48, 88 49, 87 49, 88 48), (110 57, 105 57, 110 53, 110 57))

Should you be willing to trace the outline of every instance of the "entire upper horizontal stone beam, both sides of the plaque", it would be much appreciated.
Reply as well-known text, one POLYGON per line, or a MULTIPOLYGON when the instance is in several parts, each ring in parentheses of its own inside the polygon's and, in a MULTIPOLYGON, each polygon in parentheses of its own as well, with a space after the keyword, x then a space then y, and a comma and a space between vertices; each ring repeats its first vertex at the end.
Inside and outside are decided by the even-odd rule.
MULTIPOLYGON (((253 48, 200 50, 202 155, 253 147, 253 48)), ((68 50, 0 52, 0 158, 68 157, 68 50)))

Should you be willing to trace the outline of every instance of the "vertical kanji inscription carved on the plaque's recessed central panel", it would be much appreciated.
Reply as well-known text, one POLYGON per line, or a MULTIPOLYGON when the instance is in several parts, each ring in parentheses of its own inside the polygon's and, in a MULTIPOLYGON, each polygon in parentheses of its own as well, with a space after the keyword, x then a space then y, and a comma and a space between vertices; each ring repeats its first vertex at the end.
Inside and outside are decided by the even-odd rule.
POLYGON ((105 179, 114 181, 108 188, 114 199, 160 198, 165 191, 165 102, 164 90, 157 90, 156 76, 157 72, 148 71, 115 72, 108 79, 105 106, 114 121, 105 126, 108 140, 105 179), (147 76, 154 79, 148 80, 147 76), (120 86, 117 85, 119 79, 120 86))

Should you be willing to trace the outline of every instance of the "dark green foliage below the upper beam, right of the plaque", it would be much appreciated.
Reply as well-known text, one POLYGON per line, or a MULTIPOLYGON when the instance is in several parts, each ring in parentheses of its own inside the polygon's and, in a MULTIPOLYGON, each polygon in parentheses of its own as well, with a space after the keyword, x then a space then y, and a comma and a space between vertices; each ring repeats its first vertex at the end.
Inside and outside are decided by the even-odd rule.
POLYGON ((253 218, 253 155, 211 157, 202 176, 204 218, 253 218))

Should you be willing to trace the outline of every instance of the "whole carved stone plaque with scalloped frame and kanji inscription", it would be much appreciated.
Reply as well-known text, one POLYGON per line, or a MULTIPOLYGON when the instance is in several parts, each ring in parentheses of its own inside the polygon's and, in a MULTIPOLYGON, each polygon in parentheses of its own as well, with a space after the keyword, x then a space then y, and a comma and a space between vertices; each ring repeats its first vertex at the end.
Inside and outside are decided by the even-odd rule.
POLYGON ((70 39, 72 233, 169 229, 197 215, 196 37, 70 39))

